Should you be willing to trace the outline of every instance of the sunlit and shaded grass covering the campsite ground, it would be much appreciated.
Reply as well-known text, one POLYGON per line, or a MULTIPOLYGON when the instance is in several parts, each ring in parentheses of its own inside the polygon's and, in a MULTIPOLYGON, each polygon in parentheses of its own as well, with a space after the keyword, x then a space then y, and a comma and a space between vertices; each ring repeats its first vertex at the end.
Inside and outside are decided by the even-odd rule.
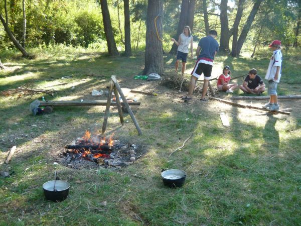
MULTIPOLYGON (((259 51, 252 60, 219 55, 215 67, 220 73, 222 64, 228 64, 233 76, 255 67, 263 75, 270 55, 265 51, 259 51)), ((55 86, 58 95, 53 99, 91 98, 89 92, 93 88, 105 88, 110 75, 116 74, 121 86, 155 89, 159 96, 139 96, 141 106, 134 109, 134 114, 142 136, 137 136, 132 123, 118 129, 118 116, 112 110, 108 132, 117 128, 118 139, 147 149, 139 161, 120 171, 78 171, 53 165, 62 147, 86 129, 99 133, 104 107, 61 107, 55 108, 51 115, 33 117, 28 111, 32 100, 2 97, 1 162, 13 145, 18 150, 9 166, 0 166, 12 175, 0 177, 0 225, 299 224, 301 116, 298 100, 281 101, 282 105, 293 104, 291 116, 265 116, 259 111, 215 101, 186 105, 166 94, 167 89, 156 82, 141 84, 133 80, 133 75, 143 68, 142 52, 135 52, 131 58, 111 58, 95 50, 67 47, 32 52, 37 55, 34 60, 22 59, 16 53, 0 53, 2 61, 9 66, 0 71, 0 91, 24 82, 41 87, 68 82, 55 86), (87 76, 91 74, 94 75, 87 76), (51 78, 66 75, 73 77, 51 78), (230 128, 221 125, 221 111, 229 117, 230 128), (186 146, 169 158, 190 134, 193 137, 186 146), (41 142, 36 143, 37 139, 41 142), (165 187, 160 176, 162 168, 185 170, 188 174, 185 185, 179 189, 165 187), (45 201, 41 187, 53 179, 54 170, 59 171, 61 179, 71 183, 70 194, 61 203, 45 201)), ((299 50, 283 52, 285 67, 281 79, 298 81, 299 55, 299 50)), ((174 58, 167 55, 165 61, 166 70, 173 71, 174 58)), ((192 67, 190 60, 187 68, 192 67)), ((284 95, 299 94, 299 90, 298 86, 285 83, 280 83, 278 89, 284 95)), ((241 91, 235 94, 242 95, 241 91)), ((125 120, 130 122, 129 116, 125 120)))

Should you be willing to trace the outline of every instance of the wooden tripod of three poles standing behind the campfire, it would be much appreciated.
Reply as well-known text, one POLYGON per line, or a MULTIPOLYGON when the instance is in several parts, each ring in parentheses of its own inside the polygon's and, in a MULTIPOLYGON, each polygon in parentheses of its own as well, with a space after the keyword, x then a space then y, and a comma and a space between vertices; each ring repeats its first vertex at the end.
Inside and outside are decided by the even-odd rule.
POLYGON ((109 111, 110 111, 110 105, 111 105, 111 99, 112 99, 112 93, 114 90, 114 94, 116 97, 116 103, 117 103, 117 108, 118 108, 118 114, 119 114, 119 118, 120 118, 120 123, 124 124, 123 121, 123 114, 122 114, 122 108, 121 108, 121 103, 120 103, 120 99, 119 99, 119 95, 123 101, 123 107, 125 107, 125 109, 127 110, 128 114, 130 115, 130 118, 132 119, 137 131, 139 135, 142 135, 142 131, 139 127, 139 124, 137 122, 137 120, 134 117, 134 114, 130 108, 130 106, 127 103, 127 100, 117 82, 116 76, 112 75, 111 76, 111 82, 110 82, 110 88, 109 88, 109 95, 108 95, 108 100, 107 100, 107 104, 106 104, 106 108, 105 108, 105 112, 104 112, 104 117, 103 117, 103 124, 102 124, 102 133, 104 134, 105 130, 106 130, 106 125, 108 122, 108 117, 109 117, 109 111))

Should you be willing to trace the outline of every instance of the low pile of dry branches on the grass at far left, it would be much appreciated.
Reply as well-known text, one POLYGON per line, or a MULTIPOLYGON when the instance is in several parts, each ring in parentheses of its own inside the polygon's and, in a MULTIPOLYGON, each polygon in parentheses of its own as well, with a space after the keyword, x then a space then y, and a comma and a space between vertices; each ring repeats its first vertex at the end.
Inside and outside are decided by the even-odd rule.
POLYGON ((45 93, 51 96, 54 96, 54 93, 56 90, 54 89, 40 89, 40 88, 34 88, 33 83, 27 83, 25 85, 22 85, 16 89, 6 89, 2 92, 0 92, 3 96, 16 96, 17 99, 23 98, 23 99, 30 99, 32 96, 36 94, 45 93))

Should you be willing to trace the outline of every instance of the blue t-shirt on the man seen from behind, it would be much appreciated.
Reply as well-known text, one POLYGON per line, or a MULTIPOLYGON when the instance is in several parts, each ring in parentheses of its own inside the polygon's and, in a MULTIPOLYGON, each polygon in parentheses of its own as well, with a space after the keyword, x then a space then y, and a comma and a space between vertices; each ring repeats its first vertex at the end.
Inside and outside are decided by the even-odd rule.
POLYGON ((211 60, 214 59, 215 52, 218 52, 219 48, 218 42, 212 36, 202 38, 198 46, 202 49, 198 58, 206 57, 211 60))

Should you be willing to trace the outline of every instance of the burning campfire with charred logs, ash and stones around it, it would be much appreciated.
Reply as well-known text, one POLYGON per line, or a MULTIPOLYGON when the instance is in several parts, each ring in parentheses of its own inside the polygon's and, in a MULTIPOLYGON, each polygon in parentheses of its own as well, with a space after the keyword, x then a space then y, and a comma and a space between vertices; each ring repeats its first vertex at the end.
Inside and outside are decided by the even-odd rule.
POLYGON ((139 145, 114 140, 113 135, 103 137, 91 136, 86 131, 82 138, 78 138, 65 151, 59 154, 60 164, 74 168, 121 168, 133 164, 142 156, 139 145))

